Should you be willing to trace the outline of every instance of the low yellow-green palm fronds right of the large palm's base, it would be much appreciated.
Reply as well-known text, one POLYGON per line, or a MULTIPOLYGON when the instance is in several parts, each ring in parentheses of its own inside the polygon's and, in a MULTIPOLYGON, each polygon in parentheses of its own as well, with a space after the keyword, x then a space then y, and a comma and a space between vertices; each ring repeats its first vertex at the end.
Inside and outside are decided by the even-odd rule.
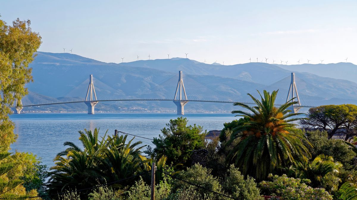
POLYGON ((290 169, 295 177, 310 179, 312 187, 323 186, 330 193, 336 191, 341 179, 338 177, 342 164, 335 162, 331 156, 323 154, 311 162, 295 163, 290 169))

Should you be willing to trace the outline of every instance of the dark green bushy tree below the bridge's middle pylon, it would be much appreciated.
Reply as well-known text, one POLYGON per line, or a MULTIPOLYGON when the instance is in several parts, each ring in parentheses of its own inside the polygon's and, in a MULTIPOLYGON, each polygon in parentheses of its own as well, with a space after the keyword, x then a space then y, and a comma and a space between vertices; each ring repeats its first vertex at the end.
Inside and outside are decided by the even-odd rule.
POLYGON ((205 147, 205 136, 207 132, 203 132, 201 126, 187 126, 188 120, 183 117, 170 120, 167 123, 168 128, 161 129, 163 135, 159 135, 159 138, 154 138, 152 141, 155 144, 155 148, 152 152, 148 148, 148 154, 154 154, 156 159, 161 156, 167 156, 167 162, 169 163, 182 163, 189 166, 192 151, 205 147))

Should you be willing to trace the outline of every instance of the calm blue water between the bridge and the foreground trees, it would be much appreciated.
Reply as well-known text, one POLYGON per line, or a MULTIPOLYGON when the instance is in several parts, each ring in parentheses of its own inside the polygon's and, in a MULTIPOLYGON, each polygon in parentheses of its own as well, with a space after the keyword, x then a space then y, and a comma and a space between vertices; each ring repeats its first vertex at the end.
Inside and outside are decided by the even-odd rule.
MULTIPOLYGON (((78 131, 100 128, 100 135, 114 134, 114 130, 153 138, 159 136, 161 128, 176 114, 14 114, 17 141, 11 145, 13 151, 32 152, 42 158, 43 164, 51 167, 56 154, 65 149, 63 143, 72 141, 81 147, 78 131)), ((224 122, 236 119, 232 114, 186 114, 190 125, 203 126, 204 130, 221 130, 224 122)), ((132 138, 128 136, 128 138, 132 138)), ((140 139, 143 144, 150 140, 140 139)))

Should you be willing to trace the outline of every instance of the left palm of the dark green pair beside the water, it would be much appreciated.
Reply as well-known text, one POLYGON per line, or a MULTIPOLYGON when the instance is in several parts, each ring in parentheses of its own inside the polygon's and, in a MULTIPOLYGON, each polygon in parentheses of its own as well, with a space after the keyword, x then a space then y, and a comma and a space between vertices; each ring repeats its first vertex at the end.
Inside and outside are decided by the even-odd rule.
MULTIPOLYGON (((84 130, 79 131, 84 149, 82 150, 73 142, 65 142, 64 146, 69 146, 65 151, 57 154, 54 161, 55 166, 49 172, 49 193, 55 194, 66 190, 84 189, 104 183, 104 173, 101 162, 103 160, 103 148, 105 147, 104 137, 99 141, 99 129, 94 132, 84 130)), ((86 195, 90 191, 83 191, 86 195)))

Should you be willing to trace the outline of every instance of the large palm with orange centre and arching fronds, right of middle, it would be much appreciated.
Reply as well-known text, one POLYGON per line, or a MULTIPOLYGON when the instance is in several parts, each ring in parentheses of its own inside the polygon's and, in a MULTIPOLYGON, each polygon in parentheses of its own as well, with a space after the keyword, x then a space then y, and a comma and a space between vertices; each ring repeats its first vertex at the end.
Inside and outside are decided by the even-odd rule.
POLYGON ((278 91, 272 94, 264 90, 263 96, 258 91, 261 100, 248 94, 256 106, 236 102, 250 112, 235 110, 233 114, 246 117, 247 121, 233 128, 229 143, 238 140, 238 144, 228 154, 228 161, 235 160, 235 164, 242 169, 242 173, 251 175, 258 180, 267 177, 269 173, 281 170, 293 163, 295 159, 308 160, 311 157, 304 143, 311 145, 301 130, 290 123, 300 120, 299 113, 287 110, 289 106, 297 104, 291 99, 287 103, 275 107, 278 91))

